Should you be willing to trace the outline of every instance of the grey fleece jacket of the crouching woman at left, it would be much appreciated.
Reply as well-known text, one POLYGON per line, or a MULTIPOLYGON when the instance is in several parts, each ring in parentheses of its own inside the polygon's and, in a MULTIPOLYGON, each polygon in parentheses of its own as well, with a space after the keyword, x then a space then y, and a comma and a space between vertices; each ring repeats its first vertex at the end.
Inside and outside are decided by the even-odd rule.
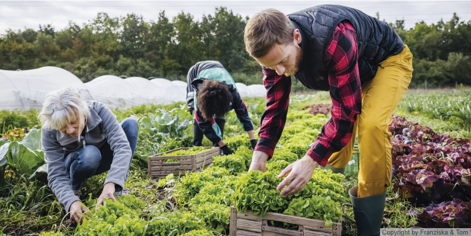
POLYGON ((73 202, 78 201, 74 195, 65 166, 65 157, 85 145, 94 145, 101 149, 109 143, 113 151, 113 162, 106 176, 105 183, 116 184, 115 190, 121 191, 124 187, 128 166, 131 161, 131 147, 123 128, 116 120, 116 116, 103 103, 86 101, 90 109, 90 116, 85 124, 85 137, 77 137, 62 133, 58 130, 42 129, 41 142, 45 161, 48 164, 48 181, 52 192, 59 202, 69 211, 73 202))

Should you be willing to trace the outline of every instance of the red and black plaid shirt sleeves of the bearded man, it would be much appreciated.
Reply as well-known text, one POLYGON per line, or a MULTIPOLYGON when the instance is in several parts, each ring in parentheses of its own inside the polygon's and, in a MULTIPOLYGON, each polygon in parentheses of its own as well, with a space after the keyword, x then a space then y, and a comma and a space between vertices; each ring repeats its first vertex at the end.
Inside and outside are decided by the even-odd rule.
MULTIPOLYGON (((324 61, 329 68, 332 118, 306 155, 325 166, 333 153, 340 151, 351 139, 353 123, 362 108, 362 91, 358 73, 358 48, 355 28, 340 23, 327 46, 324 61), (360 88, 360 89, 359 89, 360 88)), ((263 68, 266 88, 266 109, 262 115, 259 141, 255 150, 273 156, 273 151, 285 127, 288 113, 291 79, 279 76, 274 70, 263 68)))

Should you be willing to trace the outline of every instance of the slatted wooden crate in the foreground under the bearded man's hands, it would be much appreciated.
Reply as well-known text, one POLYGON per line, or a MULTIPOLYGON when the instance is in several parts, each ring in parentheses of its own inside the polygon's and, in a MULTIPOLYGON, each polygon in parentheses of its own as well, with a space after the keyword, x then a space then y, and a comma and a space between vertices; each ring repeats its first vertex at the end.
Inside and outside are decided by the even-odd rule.
POLYGON ((252 211, 237 212, 231 207, 230 236, 341 236, 342 218, 332 227, 326 227, 323 220, 314 220, 292 215, 266 212, 265 217, 252 211), (269 220, 298 225, 298 230, 268 226, 269 220))

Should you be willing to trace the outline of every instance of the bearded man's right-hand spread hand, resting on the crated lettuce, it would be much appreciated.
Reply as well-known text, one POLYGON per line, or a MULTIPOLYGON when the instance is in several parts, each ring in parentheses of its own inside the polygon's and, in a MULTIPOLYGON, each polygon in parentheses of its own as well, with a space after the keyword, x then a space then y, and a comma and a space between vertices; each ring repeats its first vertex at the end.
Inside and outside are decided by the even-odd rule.
POLYGON ((288 185, 281 191, 281 195, 297 193, 308 183, 311 177, 313 177, 313 172, 317 165, 319 164, 307 155, 289 164, 280 175, 278 175, 278 178, 283 178, 288 173, 290 174, 276 187, 276 190, 280 190, 288 185))

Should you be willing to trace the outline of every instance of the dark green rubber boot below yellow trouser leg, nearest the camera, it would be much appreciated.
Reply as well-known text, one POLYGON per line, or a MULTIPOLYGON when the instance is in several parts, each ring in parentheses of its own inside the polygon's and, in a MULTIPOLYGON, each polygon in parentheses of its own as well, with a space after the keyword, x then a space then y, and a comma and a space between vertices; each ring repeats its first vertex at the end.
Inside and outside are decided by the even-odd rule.
POLYGON ((358 236, 379 236, 386 203, 386 192, 358 198, 358 186, 354 186, 348 190, 348 193, 357 222, 358 236))

